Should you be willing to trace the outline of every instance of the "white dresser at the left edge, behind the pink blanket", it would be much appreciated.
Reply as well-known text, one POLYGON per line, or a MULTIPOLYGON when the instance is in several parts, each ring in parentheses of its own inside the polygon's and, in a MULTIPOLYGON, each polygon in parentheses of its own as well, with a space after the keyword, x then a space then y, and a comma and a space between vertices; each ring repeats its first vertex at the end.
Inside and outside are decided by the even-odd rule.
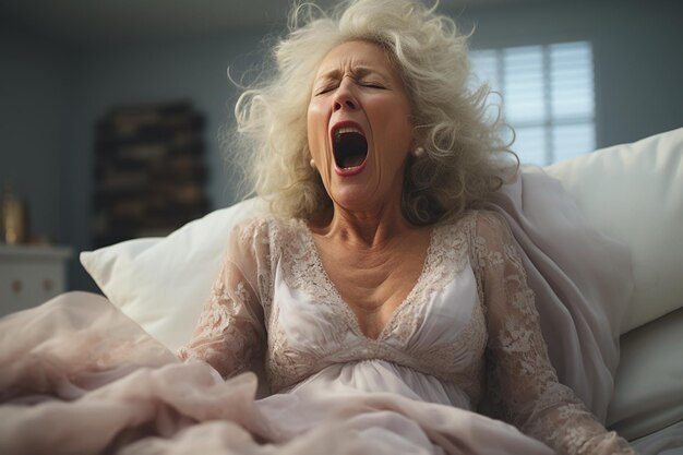
POLYGON ((67 288, 64 247, 0 243, 0 315, 40 304, 67 288))

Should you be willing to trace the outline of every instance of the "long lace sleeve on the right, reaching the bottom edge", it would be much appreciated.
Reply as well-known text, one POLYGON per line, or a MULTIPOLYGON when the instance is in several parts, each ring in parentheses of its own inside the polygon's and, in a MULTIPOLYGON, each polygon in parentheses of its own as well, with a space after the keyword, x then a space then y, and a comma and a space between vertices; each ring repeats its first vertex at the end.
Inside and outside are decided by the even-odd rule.
POLYGON ((487 308, 487 403, 491 414, 559 454, 635 454, 558 381, 534 292, 505 221, 492 213, 480 213, 475 251, 487 308))

